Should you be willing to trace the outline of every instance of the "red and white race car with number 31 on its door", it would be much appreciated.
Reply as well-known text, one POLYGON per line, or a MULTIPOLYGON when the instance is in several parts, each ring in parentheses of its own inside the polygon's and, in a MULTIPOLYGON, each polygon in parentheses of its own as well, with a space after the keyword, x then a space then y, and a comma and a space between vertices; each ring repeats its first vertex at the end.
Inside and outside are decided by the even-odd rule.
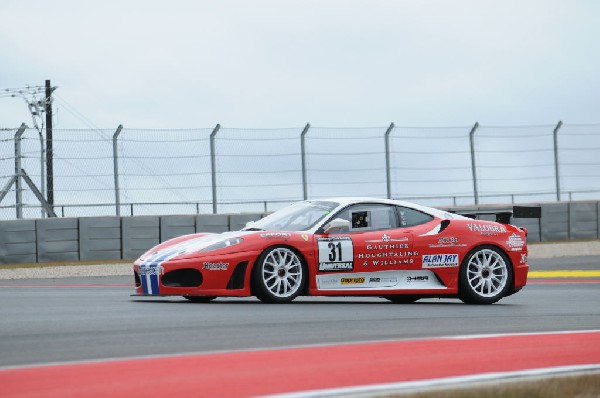
MULTIPOLYGON (((515 208, 516 209, 516 208, 515 208)), ((523 211, 521 211, 523 212, 523 211)), ((527 215, 520 215, 526 217, 527 215)), ((531 216, 531 212, 529 212, 531 216)), ((527 230, 412 203, 308 200, 241 231, 164 242, 134 263, 136 295, 457 297, 491 304, 527 282, 527 230)))

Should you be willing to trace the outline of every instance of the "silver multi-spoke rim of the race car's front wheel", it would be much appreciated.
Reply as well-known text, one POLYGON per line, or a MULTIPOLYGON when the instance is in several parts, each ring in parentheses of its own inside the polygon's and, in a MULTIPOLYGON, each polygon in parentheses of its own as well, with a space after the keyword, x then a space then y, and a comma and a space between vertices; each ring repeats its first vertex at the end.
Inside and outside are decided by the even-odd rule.
POLYGON ((293 296, 302 286, 302 262, 296 253, 278 247, 267 254, 262 266, 262 280, 275 297, 293 296))

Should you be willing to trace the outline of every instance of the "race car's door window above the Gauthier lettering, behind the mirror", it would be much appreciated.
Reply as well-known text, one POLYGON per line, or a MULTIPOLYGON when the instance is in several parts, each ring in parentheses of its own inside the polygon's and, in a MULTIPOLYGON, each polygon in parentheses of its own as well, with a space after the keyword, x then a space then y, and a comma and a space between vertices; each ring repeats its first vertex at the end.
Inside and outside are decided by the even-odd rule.
POLYGON ((350 221, 349 232, 398 228, 394 207, 388 205, 354 205, 342 210, 335 218, 350 221))

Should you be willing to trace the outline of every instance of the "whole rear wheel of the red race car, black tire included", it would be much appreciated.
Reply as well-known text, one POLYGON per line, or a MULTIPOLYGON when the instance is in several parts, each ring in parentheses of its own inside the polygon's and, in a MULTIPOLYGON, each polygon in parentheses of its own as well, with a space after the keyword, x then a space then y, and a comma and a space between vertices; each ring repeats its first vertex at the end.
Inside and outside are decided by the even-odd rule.
POLYGON ((458 297, 467 304, 492 304, 507 296, 513 268, 495 246, 479 246, 463 259, 458 276, 458 297))

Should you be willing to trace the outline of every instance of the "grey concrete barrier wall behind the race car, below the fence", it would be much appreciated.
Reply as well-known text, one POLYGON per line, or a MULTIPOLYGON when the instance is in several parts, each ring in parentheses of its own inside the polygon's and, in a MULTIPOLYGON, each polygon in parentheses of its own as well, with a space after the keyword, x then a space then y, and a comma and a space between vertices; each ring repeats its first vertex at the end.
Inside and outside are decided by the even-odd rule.
MULTIPOLYGON (((600 238, 600 201, 540 206, 541 219, 512 221, 527 228, 529 242, 600 238)), ((239 230, 248 221, 263 216, 248 213, 0 221, 0 264, 134 259, 173 237, 239 230)))

